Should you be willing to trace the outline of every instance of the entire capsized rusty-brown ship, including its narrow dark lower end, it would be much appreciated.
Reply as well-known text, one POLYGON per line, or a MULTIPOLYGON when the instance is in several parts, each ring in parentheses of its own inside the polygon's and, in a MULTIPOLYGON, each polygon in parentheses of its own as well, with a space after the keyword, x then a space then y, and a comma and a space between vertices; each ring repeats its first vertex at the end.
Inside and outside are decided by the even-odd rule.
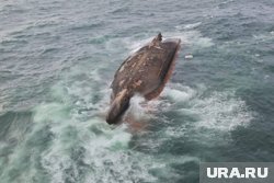
POLYGON ((117 124, 122 119, 134 94, 152 100, 161 93, 171 77, 180 44, 180 38, 162 41, 159 33, 121 65, 111 85, 109 124, 117 124))

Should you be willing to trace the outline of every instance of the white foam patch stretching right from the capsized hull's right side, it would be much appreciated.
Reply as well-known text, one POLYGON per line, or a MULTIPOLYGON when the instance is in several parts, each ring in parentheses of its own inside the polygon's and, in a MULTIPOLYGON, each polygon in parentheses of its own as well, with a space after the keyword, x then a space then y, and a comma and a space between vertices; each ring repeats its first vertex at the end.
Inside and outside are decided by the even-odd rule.
POLYGON ((204 90, 204 87, 194 90, 173 84, 167 88, 163 94, 172 101, 187 104, 176 111, 183 115, 195 116, 196 127, 230 131, 239 126, 249 125, 253 114, 249 112, 244 101, 237 98, 232 91, 203 95, 204 90))

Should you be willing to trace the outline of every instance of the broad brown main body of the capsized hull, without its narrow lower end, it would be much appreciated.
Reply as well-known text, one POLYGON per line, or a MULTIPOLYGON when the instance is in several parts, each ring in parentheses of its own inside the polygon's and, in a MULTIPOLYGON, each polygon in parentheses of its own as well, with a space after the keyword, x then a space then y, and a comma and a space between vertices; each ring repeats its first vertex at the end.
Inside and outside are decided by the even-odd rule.
POLYGON ((180 39, 140 48, 116 71, 112 83, 113 95, 124 89, 132 94, 139 93, 148 100, 159 95, 171 77, 179 49, 180 39))

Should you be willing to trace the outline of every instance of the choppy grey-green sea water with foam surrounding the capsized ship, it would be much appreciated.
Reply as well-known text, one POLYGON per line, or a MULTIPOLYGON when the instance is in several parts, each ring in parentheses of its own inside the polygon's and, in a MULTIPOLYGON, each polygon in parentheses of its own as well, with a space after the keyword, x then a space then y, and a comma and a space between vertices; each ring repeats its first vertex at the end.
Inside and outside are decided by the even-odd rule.
POLYGON ((2 0, 0 182, 197 183, 199 162, 274 160, 272 0, 2 0), (158 32, 180 37, 146 124, 109 126, 110 83, 158 32), (192 54, 192 59, 185 56, 192 54))

